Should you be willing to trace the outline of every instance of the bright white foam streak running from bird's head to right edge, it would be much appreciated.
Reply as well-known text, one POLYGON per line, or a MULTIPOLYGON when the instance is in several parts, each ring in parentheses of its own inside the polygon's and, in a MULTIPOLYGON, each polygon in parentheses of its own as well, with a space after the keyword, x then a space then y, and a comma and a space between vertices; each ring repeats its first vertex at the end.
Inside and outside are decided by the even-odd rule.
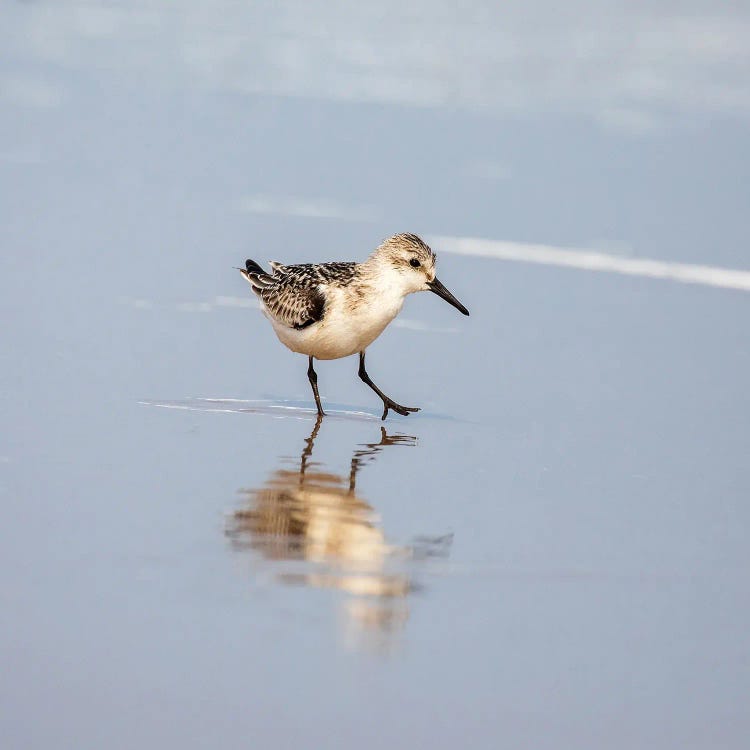
POLYGON ((562 266, 584 271, 603 271, 626 276, 668 279, 683 284, 703 284, 723 289, 750 291, 750 271, 716 266, 675 263, 648 258, 626 258, 619 255, 521 242, 480 239, 477 237, 430 237, 438 252, 472 255, 482 258, 562 266))

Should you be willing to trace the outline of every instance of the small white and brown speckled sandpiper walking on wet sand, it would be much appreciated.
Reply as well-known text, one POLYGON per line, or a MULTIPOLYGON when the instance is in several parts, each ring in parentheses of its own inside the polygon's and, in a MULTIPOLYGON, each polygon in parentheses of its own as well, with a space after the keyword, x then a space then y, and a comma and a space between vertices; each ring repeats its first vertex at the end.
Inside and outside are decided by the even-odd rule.
POLYGON ((361 263, 271 261, 271 272, 254 260, 238 268, 250 283, 279 341, 308 358, 307 377, 318 416, 325 416, 314 360, 359 355, 360 379, 389 410, 408 416, 419 407, 402 406, 378 388, 365 369, 365 352, 398 315, 413 292, 430 291, 464 315, 469 311, 435 276, 436 254, 416 234, 394 234, 361 263))

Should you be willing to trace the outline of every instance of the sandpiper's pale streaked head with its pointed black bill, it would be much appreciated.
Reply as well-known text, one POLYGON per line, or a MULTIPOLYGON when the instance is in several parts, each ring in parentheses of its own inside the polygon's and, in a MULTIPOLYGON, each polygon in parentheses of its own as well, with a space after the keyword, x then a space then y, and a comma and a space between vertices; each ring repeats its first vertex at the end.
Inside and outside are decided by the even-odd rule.
POLYGON ((416 234, 394 234, 370 256, 369 262, 386 272, 404 295, 412 292, 434 292, 453 307, 468 315, 469 311, 435 276, 437 256, 416 234))

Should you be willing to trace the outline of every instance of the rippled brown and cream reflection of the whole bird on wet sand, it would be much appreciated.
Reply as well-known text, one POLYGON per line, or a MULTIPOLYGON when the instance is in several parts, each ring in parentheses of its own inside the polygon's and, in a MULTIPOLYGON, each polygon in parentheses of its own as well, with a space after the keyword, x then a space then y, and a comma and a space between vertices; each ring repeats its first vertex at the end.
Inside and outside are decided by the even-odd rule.
POLYGON ((340 476, 312 459, 322 422, 319 416, 296 470, 278 469, 262 487, 243 491, 247 502, 232 516, 227 535, 236 549, 271 561, 282 583, 345 592, 345 643, 389 650, 409 618, 409 594, 417 587, 413 566, 448 555, 452 535, 389 544, 372 506, 357 493, 363 466, 387 446, 414 446, 415 437, 381 427, 380 440, 357 446, 348 475, 340 476))

